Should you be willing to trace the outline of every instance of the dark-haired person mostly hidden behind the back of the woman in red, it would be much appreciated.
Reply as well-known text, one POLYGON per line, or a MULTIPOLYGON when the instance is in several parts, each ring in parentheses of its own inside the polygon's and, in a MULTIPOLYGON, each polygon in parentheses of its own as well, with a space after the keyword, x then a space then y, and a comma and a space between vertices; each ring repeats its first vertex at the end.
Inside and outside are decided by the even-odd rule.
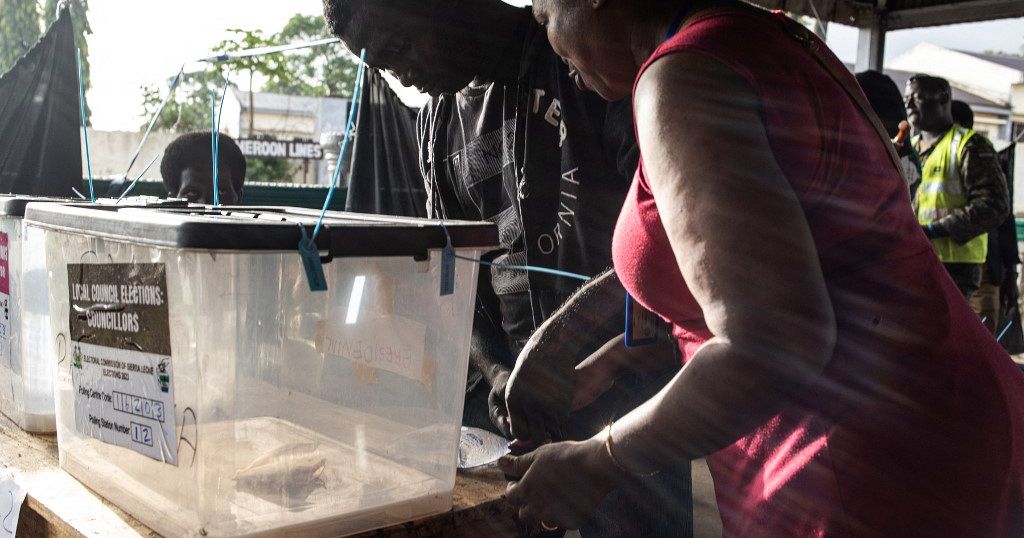
MULTIPOLYGON (((856 78, 860 89, 864 90, 871 110, 882 120, 882 126, 885 127, 889 137, 896 140, 899 136, 905 136, 905 132, 900 134, 900 125, 904 124, 904 129, 909 126, 905 125, 906 107, 899 86, 888 75, 873 70, 857 73, 856 78)), ((900 156, 900 164, 903 165, 903 177, 910 191, 910 199, 913 200, 918 184, 921 183, 921 159, 906 141, 896 143, 896 150, 900 156)))

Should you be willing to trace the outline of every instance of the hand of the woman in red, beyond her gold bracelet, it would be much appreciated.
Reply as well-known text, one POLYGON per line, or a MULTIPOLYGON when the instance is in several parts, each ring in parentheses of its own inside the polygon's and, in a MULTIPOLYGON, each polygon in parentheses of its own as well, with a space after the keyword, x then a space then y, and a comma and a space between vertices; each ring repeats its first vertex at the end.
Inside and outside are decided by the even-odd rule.
POLYGON ((522 456, 505 456, 499 465, 509 483, 506 498, 519 508, 528 528, 579 529, 601 499, 628 477, 604 449, 601 434, 588 441, 545 445, 522 456))

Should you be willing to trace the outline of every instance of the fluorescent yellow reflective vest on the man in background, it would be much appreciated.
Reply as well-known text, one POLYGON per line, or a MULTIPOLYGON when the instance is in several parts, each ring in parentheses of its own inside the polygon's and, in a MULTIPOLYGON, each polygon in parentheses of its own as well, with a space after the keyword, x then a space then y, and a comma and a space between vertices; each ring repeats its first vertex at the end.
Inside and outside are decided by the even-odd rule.
MULTIPOLYGON (((975 132, 953 125, 939 141, 935 142, 928 160, 921 171, 921 187, 918 188, 918 221, 927 224, 938 220, 953 209, 967 205, 967 193, 959 173, 961 155, 967 141, 975 132)), ((920 136, 915 136, 916 147, 920 136)), ((988 234, 982 234, 961 245, 952 238, 936 238, 932 246, 943 263, 984 263, 988 255, 988 234)))

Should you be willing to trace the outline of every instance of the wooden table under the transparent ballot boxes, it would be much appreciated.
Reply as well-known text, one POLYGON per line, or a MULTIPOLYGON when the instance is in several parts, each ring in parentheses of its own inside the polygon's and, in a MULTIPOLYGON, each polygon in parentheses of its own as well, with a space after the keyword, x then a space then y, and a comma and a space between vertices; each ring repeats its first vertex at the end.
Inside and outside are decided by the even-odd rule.
MULTIPOLYGON (((26 433, 0 415, 0 465, 28 491, 17 536, 159 537, 138 520, 100 498, 57 465, 54 436, 26 433)), ((504 500, 505 480, 495 466, 460 472, 454 508, 446 513, 358 535, 375 538, 515 536, 514 510, 504 500)))

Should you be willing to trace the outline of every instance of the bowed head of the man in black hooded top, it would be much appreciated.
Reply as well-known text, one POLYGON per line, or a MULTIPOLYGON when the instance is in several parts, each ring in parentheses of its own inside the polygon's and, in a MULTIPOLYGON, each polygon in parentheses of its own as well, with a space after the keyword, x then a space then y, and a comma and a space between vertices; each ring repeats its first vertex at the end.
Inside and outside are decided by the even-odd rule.
MULTIPOLYGON (((367 64, 402 84, 437 95, 459 91, 488 72, 495 36, 477 24, 501 0, 324 0, 331 33, 367 64)), ((499 51, 500 52, 500 51, 499 51)))

